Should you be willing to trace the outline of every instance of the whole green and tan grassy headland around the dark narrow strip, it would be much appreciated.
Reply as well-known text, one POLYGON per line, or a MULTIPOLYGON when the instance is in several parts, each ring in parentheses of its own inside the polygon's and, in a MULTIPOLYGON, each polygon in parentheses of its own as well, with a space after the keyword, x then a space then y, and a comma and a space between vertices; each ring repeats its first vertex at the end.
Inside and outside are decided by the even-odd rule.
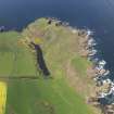
POLYGON ((91 63, 80 55, 85 36, 55 25, 40 18, 21 33, 0 34, 0 76, 7 92, 5 103, 0 103, 5 114, 98 114, 86 103, 94 85, 91 63), (37 67, 31 41, 40 46, 50 75, 37 67))

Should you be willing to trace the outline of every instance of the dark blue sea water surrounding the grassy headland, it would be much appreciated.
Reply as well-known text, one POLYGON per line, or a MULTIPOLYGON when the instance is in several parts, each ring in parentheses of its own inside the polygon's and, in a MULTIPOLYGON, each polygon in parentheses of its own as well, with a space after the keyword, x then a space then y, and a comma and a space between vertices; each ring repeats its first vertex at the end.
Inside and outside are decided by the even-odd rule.
POLYGON ((0 26, 21 29, 42 16, 96 31, 99 55, 114 71, 114 0, 0 0, 0 26))

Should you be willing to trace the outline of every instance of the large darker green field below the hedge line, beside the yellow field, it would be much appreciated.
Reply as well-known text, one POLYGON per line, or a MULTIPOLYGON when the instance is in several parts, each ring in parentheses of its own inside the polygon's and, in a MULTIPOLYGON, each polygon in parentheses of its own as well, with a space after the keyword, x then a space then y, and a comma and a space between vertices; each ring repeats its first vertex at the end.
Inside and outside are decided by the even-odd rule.
POLYGON ((84 99, 63 79, 12 81, 9 85, 7 114, 91 114, 84 99), (81 105, 81 106, 80 106, 81 105))

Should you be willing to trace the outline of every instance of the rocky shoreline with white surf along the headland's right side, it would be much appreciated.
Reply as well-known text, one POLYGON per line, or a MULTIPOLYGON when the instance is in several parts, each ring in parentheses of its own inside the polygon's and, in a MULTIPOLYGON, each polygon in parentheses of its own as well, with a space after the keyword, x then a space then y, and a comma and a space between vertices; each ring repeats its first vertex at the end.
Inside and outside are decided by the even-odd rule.
POLYGON ((96 94, 88 99, 88 103, 102 110, 104 114, 114 114, 114 84, 109 78, 110 71, 105 69, 106 62, 94 58, 97 54, 97 42, 92 38, 92 31, 80 30, 79 35, 85 39, 80 39, 80 55, 92 62, 91 73, 96 83, 96 94))

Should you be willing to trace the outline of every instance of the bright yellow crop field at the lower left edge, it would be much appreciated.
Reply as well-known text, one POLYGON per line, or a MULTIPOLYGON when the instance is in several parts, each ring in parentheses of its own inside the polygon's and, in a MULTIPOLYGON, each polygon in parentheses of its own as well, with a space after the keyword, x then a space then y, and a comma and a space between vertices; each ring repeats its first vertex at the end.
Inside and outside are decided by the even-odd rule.
POLYGON ((4 114, 7 101, 7 84, 0 81, 0 114, 4 114))

